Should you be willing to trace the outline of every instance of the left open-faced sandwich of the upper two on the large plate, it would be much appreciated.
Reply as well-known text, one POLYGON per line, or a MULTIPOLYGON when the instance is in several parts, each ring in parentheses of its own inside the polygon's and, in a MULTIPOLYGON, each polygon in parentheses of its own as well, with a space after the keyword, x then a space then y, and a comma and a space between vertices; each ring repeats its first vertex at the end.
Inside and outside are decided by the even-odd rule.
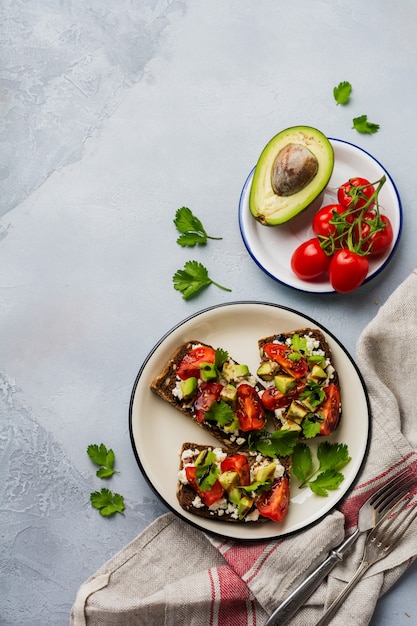
POLYGON ((251 432, 262 430, 262 387, 224 350, 189 341, 175 352, 151 389, 233 450, 246 447, 251 432))

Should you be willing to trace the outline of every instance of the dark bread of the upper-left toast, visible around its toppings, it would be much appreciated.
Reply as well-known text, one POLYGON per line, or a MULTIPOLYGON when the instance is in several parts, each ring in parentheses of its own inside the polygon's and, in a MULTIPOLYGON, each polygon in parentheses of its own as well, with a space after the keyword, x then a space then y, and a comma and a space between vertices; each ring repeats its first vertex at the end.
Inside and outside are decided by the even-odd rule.
MULTIPOLYGON (((151 390, 158 396, 160 396, 163 400, 168 402, 171 406, 181 411, 181 413, 183 413, 187 417, 191 418, 200 428, 203 428, 211 435, 213 435, 222 445, 235 451, 243 447, 247 447, 248 432, 243 432, 240 427, 229 430, 229 425, 223 425, 222 427, 221 424, 217 423, 213 419, 204 419, 203 421, 199 420, 196 416, 195 409, 196 396, 184 399, 183 397, 181 397, 181 393, 179 393, 180 380, 177 375, 179 364, 182 362, 184 357, 189 354, 191 350, 198 346, 204 346, 214 350, 212 346, 204 344, 200 341, 195 340, 186 342, 174 352, 174 354, 167 361, 161 373, 154 378, 151 383, 151 390)), ((228 355, 227 357, 227 363, 232 365, 239 365, 239 363, 232 359, 230 355, 228 355)), ((223 378, 223 374, 220 373, 218 374, 216 382, 223 386, 233 383, 233 385, 236 387, 238 387, 241 383, 248 383, 254 390, 256 390, 256 393, 259 393, 262 389, 261 385, 259 385, 258 381, 250 374, 250 372, 248 372, 247 375, 237 377, 236 380, 230 378, 228 380, 225 380, 223 378)), ((200 384, 201 380, 199 380, 199 385, 200 384)), ((261 405, 260 400, 259 404, 261 405)), ((233 410, 235 411, 235 409, 233 410)), ((263 411, 266 421, 268 415, 266 415, 266 412, 264 411, 262 406, 260 407, 260 410, 263 411)), ((238 422, 236 422, 236 424, 238 424, 238 422)))

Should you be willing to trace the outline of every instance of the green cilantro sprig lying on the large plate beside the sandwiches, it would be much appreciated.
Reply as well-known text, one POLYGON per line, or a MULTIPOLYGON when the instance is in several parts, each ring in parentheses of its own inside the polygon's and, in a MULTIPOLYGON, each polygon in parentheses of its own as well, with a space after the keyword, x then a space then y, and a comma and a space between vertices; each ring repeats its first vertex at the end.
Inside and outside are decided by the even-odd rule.
POLYGON ((344 443, 322 441, 317 448, 317 461, 318 466, 314 468, 311 449, 299 442, 292 454, 292 472, 301 488, 308 486, 313 493, 326 497, 344 480, 340 470, 351 461, 348 447, 344 443))

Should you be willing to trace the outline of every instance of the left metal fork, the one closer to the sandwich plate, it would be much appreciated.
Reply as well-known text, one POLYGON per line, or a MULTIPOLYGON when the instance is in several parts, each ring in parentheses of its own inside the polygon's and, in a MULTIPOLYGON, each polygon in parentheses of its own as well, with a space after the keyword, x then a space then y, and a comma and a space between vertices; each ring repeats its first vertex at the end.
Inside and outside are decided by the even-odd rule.
POLYGON ((359 509, 358 526, 352 535, 345 539, 340 546, 333 549, 327 559, 275 609, 265 626, 284 626, 317 589, 335 565, 343 560, 343 557, 354 545, 358 537, 375 526, 378 520, 381 519, 381 516, 390 507, 393 507, 416 481, 416 476, 406 469, 373 493, 359 509))

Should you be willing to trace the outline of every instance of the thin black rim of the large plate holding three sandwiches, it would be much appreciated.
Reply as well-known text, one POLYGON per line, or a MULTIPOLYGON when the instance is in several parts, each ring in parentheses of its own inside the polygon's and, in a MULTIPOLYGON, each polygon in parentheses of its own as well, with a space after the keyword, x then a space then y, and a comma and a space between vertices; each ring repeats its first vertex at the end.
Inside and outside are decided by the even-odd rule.
POLYGON ((369 450, 369 444, 370 444, 370 439, 371 439, 371 427, 372 427, 372 420, 371 420, 371 405, 370 405, 370 400, 369 400, 369 395, 368 395, 368 391, 365 385, 365 381, 363 379, 363 376, 358 368, 358 366, 356 365, 355 361, 353 360, 352 356, 350 355, 350 353, 348 352, 348 350, 343 346, 343 344, 340 342, 340 340, 332 333, 330 332, 325 326, 323 326, 323 324, 320 324, 319 322, 317 322, 317 320, 315 320, 314 318, 301 313, 300 311, 297 311, 296 309, 292 309, 291 307, 287 307, 281 304, 275 304, 272 302, 264 302, 264 301, 260 301, 260 300, 239 300, 236 302, 224 302, 221 304, 216 304, 210 307, 207 307, 205 309, 202 309, 200 311, 197 311, 195 313, 193 313, 192 315, 188 316, 187 318, 183 319, 181 322, 179 322, 178 324, 176 324, 175 326, 173 326, 170 330, 168 330, 162 337, 161 339, 154 345, 154 347, 151 349, 151 351, 148 353, 147 357, 145 358, 145 360, 143 361, 139 372, 136 376, 135 382, 133 384, 133 388, 132 388, 132 392, 131 392, 131 396, 130 396, 130 402, 129 402, 129 434, 130 434, 130 441, 131 441, 131 445, 132 445, 132 449, 133 449, 133 453, 135 455, 135 459, 136 462, 139 466, 139 469, 143 475, 143 477, 145 478, 147 484, 149 485, 149 487, 151 488, 151 490, 153 491, 153 493, 158 497, 158 499, 164 504, 164 506, 171 511, 172 513, 174 513, 178 518, 182 519, 184 522, 186 522, 187 524, 190 524, 191 526, 193 526, 194 528, 197 528, 198 530, 202 530, 203 532, 209 533, 211 535, 215 535, 215 536, 220 536, 220 537, 226 537, 228 539, 232 539, 234 541, 242 541, 242 542, 247 542, 247 541, 272 541, 273 539, 276 539, 278 537, 289 537, 290 535, 294 535, 298 532, 301 532, 302 530, 306 530, 307 528, 310 528, 311 526, 314 526, 315 524, 318 524, 322 519, 324 519, 327 515, 329 515, 337 506, 338 504, 341 502, 341 500, 343 500, 344 498, 347 497, 347 495, 352 491, 352 489, 354 488, 354 486, 356 485, 359 475, 361 473, 361 470, 363 468, 365 459, 367 457, 368 454, 368 450, 369 450), (357 472, 355 474, 355 476, 353 477, 349 487, 346 489, 346 491, 343 492, 343 494, 341 494, 340 498, 337 500, 337 502, 334 503, 334 505, 327 511, 325 511, 322 515, 320 515, 319 517, 317 517, 314 521, 312 521, 310 524, 307 524, 306 526, 303 526, 302 528, 296 529, 296 530, 292 530, 292 531, 288 531, 285 533, 279 533, 277 535, 273 535, 270 537, 265 537, 265 538, 261 538, 261 539, 257 539, 257 538, 236 538, 233 536, 229 536, 229 535, 225 535, 224 533, 220 533, 220 532, 216 532, 215 530, 211 530, 211 529, 206 529, 206 528, 202 528, 202 526, 198 523, 196 518, 196 521, 190 520, 187 517, 185 517, 184 515, 182 515, 180 510, 175 509, 173 506, 171 506, 165 499, 164 497, 159 493, 159 491, 154 487, 152 479, 148 476, 145 468, 142 465, 142 461, 140 459, 140 455, 137 451, 136 448, 136 442, 133 436, 133 403, 134 403, 134 399, 135 399, 135 395, 136 395, 136 389, 138 387, 139 381, 142 377, 142 374, 150 360, 150 358, 152 357, 152 355, 155 353, 155 351, 159 348, 159 346, 171 335, 171 333, 173 333, 175 330, 177 330, 178 328, 180 328, 181 326, 183 326, 184 324, 187 324, 189 321, 204 315, 205 313, 208 313, 210 311, 213 311, 215 309, 221 309, 221 308, 225 308, 225 307, 231 307, 231 306, 239 306, 239 305, 262 305, 262 306, 270 306, 276 309, 281 309, 283 311, 288 311, 289 313, 293 313, 296 315, 299 315, 301 317, 303 317, 306 321, 309 321, 311 323, 313 323, 314 325, 317 326, 317 328, 320 328, 322 331, 324 331, 329 337, 331 337, 333 339, 333 341, 335 341, 337 343, 337 345, 339 346, 339 348, 344 352, 344 354, 346 355, 346 357, 349 359, 351 365, 353 366, 358 379, 361 383, 362 389, 363 389, 363 393, 364 393, 364 397, 365 397, 365 401, 366 401, 366 407, 367 407, 367 414, 368 414, 368 434, 367 434, 367 440, 366 440, 366 445, 365 445, 365 450, 364 450, 364 454, 363 457, 361 459, 360 465, 357 469, 357 472))

